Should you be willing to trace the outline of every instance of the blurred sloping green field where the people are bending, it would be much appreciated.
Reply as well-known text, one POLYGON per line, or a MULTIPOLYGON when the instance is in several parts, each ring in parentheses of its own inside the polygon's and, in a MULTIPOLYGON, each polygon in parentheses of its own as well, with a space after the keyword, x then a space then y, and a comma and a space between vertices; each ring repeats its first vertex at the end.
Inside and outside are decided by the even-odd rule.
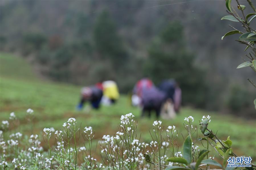
MULTIPOLYGON (((75 107, 79 101, 81 87, 42 81, 28 63, 21 57, 11 54, 1 53, 0 64, 1 121, 9 119, 11 112, 15 112, 21 120, 18 129, 11 129, 11 131, 20 131, 30 135, 31 127, 33 127, 34 134, 41 134, 44 127, 54 127, 58 130, 68 118, 75 117, 77 122, 81 122, 82 128, 93 127, 96 139, 100 140, 103 135, 113 135, 117 131, 121 115, 132 112, 138 119, 138 131, 142 133, 141 140, 151 141, 148 129, 152 127, 155 117, 140 118, 140 110, 131 107, 125 95, 122 95, 113 106, 103 106, 100 110, 87 110, 88 107, 85 107, 83 111, 76 111, 75 107), (35 118, 32 125, 25 120, 28 108, 34 110, 35 118)), ((193 116, 196 120, 193 123, 197 125, 197 120, 201 119, 203 115, 212 116, 209 128, 214 132, 218 130, 217 135, 221 139, 226 140, 230 135, 230 139, 233 141, 233 151, 237 155, 251 156, 255 162, 255 120, 245 120, 233 115, 184 107, 176 119, 161 121, 166 126, 175 125, 179 133, 185 134, 184 117, 193 116)), ((179 143, 182 144, 182 142, 183 140, 180 138, 179 143)), ((44 144, 43 140, 42 144, 44 144)), ((200 142, 198 141, 198 144, 195 145, 199 146, 200 142)), ((217 157, 215 151, 212 148, 211 150, 213 151, 211 152, 212 156, 217 157)))

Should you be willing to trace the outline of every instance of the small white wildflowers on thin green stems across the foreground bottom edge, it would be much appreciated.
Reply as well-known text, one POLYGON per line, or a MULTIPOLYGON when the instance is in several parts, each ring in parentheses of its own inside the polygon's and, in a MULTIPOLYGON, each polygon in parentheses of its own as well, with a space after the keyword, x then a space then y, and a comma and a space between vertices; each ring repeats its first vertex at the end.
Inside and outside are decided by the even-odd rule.
MULTIPOLYGON (((33 110, 28 109, 27 112, 30 115, 33 113, 33 110)), ((167 156, 183 157, 183 154, 179 152, 179 145, 176 140, 176 136, 178 137, 176 127, 172 125, 165 128, 161 121, 153 121, 154 133, 150 132, 151 142, 140 142, 140 135, 136 132, 137 122, 134 121, 133 117, 132 113, 122 115, 118 131, 113 136, 103 135, 102 140, 99 142, 101 156, 105 166, 107 166, 106 168, 152 169, 153 164, 155 169, 159 169, 160 164, 163 167, 180 165, 179 163, 166 161, 167 156), (177 133, 177 135, 173 136, 174 133, 177 133)), ((202 119, 208 119, 209 122, 210 118, 209 115, 202 117, 202 119)), ((10 114, 10 119, 16 119, 13 112, 10 114)), ((191 129, 193 128, 192 122, 194 118, 189 116, 185 117, 184 120, 185 129, 193 136, 191 129), (186 122, 189 122, 187 123, 189 126, 186 122)), ((11 121, 10 123, 11 127, 13 127, 13 122, 11 121)), ((9 122, 2 121, 2 126, 7 128, 9 122)), ((93 153, 95 133, 93 133, 91 126, 86 126, 80 131, 76 119, 71 117, 63 124, 63 127, 56 131, 53 127, 43 129, 43 135, 48 139, 45 140, 44 138, 48 146, 48 152, 45 152, 42 146, 40 146, 41 142, 38 135, 31 135, 27 139, 26 135, 22 135, 20 132, 9 133, 5 130, 0 131, 0 169, 54 169, 56 167, 58 169, 87 168, 99 170, 105 168, 93 156, 95 154, 93 153), (52 141, 50 138, 53 132, 56 138, 54 146, 50 142, 52 141), (81 142, 81 136, 84 139, 82 146, 78 145, 81 142), (4 140, 5 137, 9 137, 9 140, 4 140), (27 146, 21 145, 26 142, 28 143, 27 146), (83 163, 78 165, 77 160, 83 160, 83 163)), ((192 143, 192 152, 193 158, 196 160, 200 149, 194 143, 192 143)), ((214 159, 214 157, 210 157, 210 159, 214 159)))

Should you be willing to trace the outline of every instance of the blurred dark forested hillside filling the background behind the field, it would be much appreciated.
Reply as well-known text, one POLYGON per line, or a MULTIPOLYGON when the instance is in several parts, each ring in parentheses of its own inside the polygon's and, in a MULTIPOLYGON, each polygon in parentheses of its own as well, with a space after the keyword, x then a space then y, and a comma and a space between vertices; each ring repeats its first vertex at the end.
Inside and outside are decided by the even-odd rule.
POLYGON ((231 29, 220 20, 224 1, 1 1, 0 7, 1 51, 21 54, 43 77, 78 85, 113 79, 123 93, 145 76, 156 84, 175 78, 183 104, 255 112, 254 89, 242 77, 255 74, 236 70, 244 49, 234 37, 221 40, 231 29))

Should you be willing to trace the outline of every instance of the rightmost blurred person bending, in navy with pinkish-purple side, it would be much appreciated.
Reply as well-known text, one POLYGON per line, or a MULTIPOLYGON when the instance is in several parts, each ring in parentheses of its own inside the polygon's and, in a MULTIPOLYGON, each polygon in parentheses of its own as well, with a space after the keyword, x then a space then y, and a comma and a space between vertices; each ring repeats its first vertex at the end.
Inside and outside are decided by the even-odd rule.
POLYGON ((178 113, 181 107, 181 88, 179 84, 174 79, 164 80, 160 83, 159 89, 167 95, 167 98, 174 105, 175 112, 178 113))

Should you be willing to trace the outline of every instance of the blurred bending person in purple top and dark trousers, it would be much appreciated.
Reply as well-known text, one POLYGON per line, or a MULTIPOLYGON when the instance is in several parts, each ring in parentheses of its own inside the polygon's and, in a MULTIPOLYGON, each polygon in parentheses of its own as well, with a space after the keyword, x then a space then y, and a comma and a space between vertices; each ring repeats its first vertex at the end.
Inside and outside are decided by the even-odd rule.
POLYGON ((161 107, 166 101, 166 95, 164 92, 152 86, 150 88, 142 89, 142 116, 145 116, 146 112, 148 116, 151 116, 151 111, 155 111, 156 117, 159 118, 161 107))

